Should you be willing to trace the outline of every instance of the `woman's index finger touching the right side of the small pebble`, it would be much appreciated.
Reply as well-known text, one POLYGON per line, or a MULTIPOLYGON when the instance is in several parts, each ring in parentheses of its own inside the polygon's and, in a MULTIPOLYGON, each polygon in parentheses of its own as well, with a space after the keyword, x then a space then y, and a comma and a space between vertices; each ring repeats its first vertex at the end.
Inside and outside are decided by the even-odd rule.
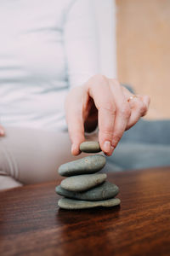
POLYGON ((99 76, 92 82, 88 93, 94 99, 94 104, 98 109, 99 145, 105 154, 112 154, 114 148, 111 146, 111 141, 116 113, 115 104, 108 80, 105 77, 99 76))

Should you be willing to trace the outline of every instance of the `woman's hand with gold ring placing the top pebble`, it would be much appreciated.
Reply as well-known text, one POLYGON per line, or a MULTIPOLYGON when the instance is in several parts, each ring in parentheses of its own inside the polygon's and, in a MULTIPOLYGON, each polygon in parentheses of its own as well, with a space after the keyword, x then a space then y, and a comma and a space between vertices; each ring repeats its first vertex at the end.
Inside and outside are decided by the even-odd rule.
POLYGON ((94 131, 99 125, 100 148, 111 155, 123 132, 135 125, 149 108, 149 96, 132 96, 116 79, 102 75, 73 88, 65 102, 71 153, 80 154, 84 131, 94 131))

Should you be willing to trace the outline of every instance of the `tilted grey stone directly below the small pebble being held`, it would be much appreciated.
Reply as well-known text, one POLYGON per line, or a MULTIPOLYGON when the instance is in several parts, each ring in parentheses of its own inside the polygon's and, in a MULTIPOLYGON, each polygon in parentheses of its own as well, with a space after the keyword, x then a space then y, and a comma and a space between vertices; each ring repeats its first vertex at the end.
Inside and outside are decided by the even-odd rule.
POLYGON ((99 172, 105 166, 105 156, 94 154, 59 166, 61 176, 73 176, 99 172))

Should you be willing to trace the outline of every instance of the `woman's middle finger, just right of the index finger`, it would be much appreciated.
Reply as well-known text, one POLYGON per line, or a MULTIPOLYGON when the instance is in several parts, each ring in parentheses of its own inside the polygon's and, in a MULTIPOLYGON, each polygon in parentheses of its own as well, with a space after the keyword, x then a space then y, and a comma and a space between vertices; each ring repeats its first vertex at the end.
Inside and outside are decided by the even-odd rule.
POLYGON ((110 80, 112 96, 116 103, 116 118, 113 131, 112 146, 116 148, 127 127, 128 119, 131 115, 131 109, 127 99, 123 94, 122 86, 116 80, 110 80))

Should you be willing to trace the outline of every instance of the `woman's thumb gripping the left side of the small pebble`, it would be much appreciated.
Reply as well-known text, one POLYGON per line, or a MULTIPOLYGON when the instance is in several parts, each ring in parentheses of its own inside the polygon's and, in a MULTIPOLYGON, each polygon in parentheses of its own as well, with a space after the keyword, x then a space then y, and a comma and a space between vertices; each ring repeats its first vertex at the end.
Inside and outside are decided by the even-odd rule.
MULTIPOLYGON (((73 97, 66 101, 65 110, 66 110, 66 121, 68 125, 69 135, 71 137, 71 154, 77 155, 80 154, 80 143, 84 142, 84 125, 82 119, 82 102, 73 101, 73 97)), ((77 96, 77 99, 79 97, 77 96)))

